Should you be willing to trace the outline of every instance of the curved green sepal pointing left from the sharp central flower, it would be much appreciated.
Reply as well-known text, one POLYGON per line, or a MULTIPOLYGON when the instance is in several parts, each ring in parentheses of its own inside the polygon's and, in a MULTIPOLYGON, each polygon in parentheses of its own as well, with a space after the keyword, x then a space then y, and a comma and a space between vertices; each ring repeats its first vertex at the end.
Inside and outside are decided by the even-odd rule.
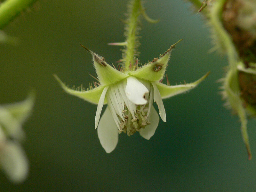
MULTIPOLYGON (((88 90, 88 91, 77 91, 77 90, 74 90, 74 89, 71 89, 69 87, 67 87, 61 80, 60 78, 54 74, 54 77, 57 79, 57 81, 60 83, 60 86, 64 89, 65 92, 71 94, 71 95, 74 95, 76 97, 79 97, 83 100, 86 100, 90 103, 93 103, 93 104, 98 104, 99 102, 99 99, 100 99, 100 95, 101 93, 103 92, 103 89, 104 89, 104 85, 100 85, 99 87, 96 87, 92 90, 88 90)), ((105 98, 104 100, 104 104, 107 103, 107 100, 105 98)))

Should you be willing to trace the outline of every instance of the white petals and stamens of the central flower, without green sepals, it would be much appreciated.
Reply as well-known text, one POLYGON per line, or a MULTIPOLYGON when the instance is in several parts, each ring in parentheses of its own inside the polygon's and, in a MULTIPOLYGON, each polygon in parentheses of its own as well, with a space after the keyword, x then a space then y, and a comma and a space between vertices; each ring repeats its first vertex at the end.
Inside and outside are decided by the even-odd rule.
MULTIPOLYGON (((117 85, 108 87, 106 93, 102 93, 104 94, 102 100, 105 95, 107 96, 108 107, 100 119, 98 137, 106 152, 109 153, 116 148, 117 131, 126 132, 128 136, 140 131, 140 135, 145 139, 150 139, 154 135, 159 122, 158 114, 152 105, 154 96, 160 101, 159 109, 163 110, 160 112, 163 114, 161 117, 166 121, 164 105, 158 89, 154 90, 154 83, 153 85, 146 81, 143 83, 129 76, 117 85)), ((98 105, 97 111, 101 109, 102 105, 98 105)), ((97 115, 100 115, 100 112, 96 113, 95 119, 99 119, 97 115)), ((95 128, 97 125, 98 122, 95 122, 95 128)))

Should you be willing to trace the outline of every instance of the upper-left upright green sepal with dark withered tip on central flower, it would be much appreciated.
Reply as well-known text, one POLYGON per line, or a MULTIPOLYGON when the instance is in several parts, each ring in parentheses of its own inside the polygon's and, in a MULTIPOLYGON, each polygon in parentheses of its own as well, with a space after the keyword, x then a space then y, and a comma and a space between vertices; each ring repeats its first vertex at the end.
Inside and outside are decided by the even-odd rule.
POLYGON ((96 73, 101 85, 111 85, 122 79, 126 78, 128 75, 124 74, 115 68, 111 67, 104 59, 95 53, 93 53, 90 49, 81 45, 86 51, 92 54, 93 65, 96 69, 96 73))

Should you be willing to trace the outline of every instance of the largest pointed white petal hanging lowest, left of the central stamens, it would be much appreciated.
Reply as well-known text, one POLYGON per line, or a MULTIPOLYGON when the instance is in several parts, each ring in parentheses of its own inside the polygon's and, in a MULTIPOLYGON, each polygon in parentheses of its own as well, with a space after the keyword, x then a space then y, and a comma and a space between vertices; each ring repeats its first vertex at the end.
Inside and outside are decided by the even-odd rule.
POLYGON ((100 118, 98 137, 100 139, 101 146, 107 153, 110 153, 116 148, 116 144, 118 142, 118 131, 109 107, 106 108, 100 118))

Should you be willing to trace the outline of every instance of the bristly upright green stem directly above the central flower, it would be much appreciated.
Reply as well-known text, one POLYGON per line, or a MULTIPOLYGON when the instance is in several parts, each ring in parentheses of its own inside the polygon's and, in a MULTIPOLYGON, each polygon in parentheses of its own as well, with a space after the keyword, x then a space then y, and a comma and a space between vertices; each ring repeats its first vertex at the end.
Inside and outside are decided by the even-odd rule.
POLYGON ((137 30, 138 30, 138 17, 141 13, 141 4, 140 0, 134 0, 132 2, 132 8, 130 10, 130 16, 127 20, 127 26, 125 27, 126 31, 124 35, 126 39, 126 49, 124 50, 124 69, 129 70, 130 64, 135 63, 135 53, 138 46, 137 41, 137 30))

